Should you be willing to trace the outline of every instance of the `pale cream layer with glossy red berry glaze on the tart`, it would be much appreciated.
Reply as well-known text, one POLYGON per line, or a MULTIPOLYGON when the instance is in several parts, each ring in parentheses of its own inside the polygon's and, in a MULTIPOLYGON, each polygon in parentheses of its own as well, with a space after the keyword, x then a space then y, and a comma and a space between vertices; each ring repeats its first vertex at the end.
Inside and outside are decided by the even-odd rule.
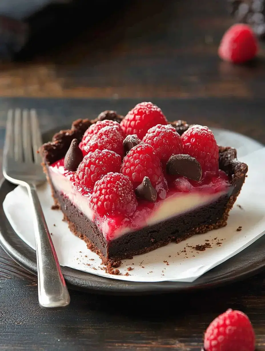
MULTIPOLYGON (((176 207, 179 206, 179 200, 184 199, 187 195, 200 194, 200 197, 206 197, 210 194, 216 194, 216 199, 228 192, 231 184, 229 183, 228 176, 225 172, 219 170, 216 173, 206 172, 200 181, 188 180, 185 177, 172 177, 165 176, 168 184, 165 199, 157 198, 155 203, 137 199, 138 205, 133 214, 130 216, 117 215, 117 216, 99 216, 92 211, 90 198, 92 190, 86 187, 81 187, 75 181, 75 172, 68 171, 64 167, 64 159, 61 159, 49 166, 49 174, 53 181, 53 185, 57 191, 63 193, 70 201, 80 209, 88 218, 96 223, 99 229, 103 232, 106 240, 113 240, 122 234, 129 231, 139 230, 140 228, 151 225, 162 218, 166 219, 174 215, 172 213, 172 201, 177 201, 176 207), (170 202, 170 215, 168 215, 168 208, 164 206, 167 200, 170 202), (159 214, 159 215, 158 215, 159 214)), ((193 198, 191 197, 191 200, 193 198)), ((183 210, 185 212, 185 210, 183 210)), ((179 210, 177 210, 179 214, 179 210)))

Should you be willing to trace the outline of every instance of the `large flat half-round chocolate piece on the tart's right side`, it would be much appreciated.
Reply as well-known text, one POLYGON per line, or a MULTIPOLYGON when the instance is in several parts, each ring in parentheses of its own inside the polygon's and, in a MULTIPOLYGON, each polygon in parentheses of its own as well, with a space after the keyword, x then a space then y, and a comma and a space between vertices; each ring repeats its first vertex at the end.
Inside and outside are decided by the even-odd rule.
POLYGON ((190 155, 173 155, 166 164, 166 171, 172 176, 183 176, 192 180, 202 179, 202 167, 190 155))

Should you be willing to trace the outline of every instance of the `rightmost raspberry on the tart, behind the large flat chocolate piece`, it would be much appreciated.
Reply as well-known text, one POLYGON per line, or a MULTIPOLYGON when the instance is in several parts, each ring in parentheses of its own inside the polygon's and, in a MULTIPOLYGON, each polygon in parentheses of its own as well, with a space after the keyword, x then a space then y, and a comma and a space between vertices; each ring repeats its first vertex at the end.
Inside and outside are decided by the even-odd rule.
POLYGON ((201 164, 202 171, 217 172, 219 168, 219 147, 213 132, 208 127, 191 126, 181 135, 183 153, 201 164))

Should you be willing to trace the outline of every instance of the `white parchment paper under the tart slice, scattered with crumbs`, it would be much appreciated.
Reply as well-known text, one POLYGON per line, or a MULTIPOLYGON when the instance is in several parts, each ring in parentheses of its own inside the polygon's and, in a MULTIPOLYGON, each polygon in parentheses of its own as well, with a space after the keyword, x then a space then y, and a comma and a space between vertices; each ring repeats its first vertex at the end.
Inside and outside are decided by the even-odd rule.
MULTIPOLYGON (((135 282, 193 282, 260 238, 265 233, 265 148, 232 132, 218 131, 216 139, 220 145, 238 146, 239 155, 243 155, 239 159, 249 167, 248 178, 225 228, 193 236, 179 244, 171 243, 131 260, 123 260, 119 267, 120 274, 112 275, 105 272, 100 258, 87 249, 84 241, 70 232, 68 225, 62 221, 62 212, 51 210, 51 192, 45 184, 38 189, 38 195, 60 264, 100 276, 135 282), (239 227, 242 229, 237 231, 239 227), (195 249, 196 245, 206 243, 211 247, 205 251, 195 249), (132 270, 128 271, 128 267, 132 270), (125 276, 126 273, 130 275, 125 276)), ((18 186, 7 194, 4 211, 8 220, 18 236, 35 249, 30 208, 23 187, 18 186)))

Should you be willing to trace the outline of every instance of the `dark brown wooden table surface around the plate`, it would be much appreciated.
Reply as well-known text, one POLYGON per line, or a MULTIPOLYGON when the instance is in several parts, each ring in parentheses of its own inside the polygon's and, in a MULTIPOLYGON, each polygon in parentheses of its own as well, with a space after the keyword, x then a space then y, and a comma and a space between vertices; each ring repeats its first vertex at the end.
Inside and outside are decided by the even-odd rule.
MULTIPOLYGON (((37 108, 48 131, 107 108, 126 113, 143 100, 157 103, 170 120, 265 143, 265 51, 248 66, 217 57, 232 23, 225 5, 134 1, 45 57, 0 66, 0 148, 8 108, 37 108)), ((151 297, 71 291, 68 309, 49 311, 38 306, 36 277, 0 250, 0 350, 199 351, 208 324, 229 307, 248 314, 257 350, 265 350, 264 279, 261 273, 207 291, 151 297)))

